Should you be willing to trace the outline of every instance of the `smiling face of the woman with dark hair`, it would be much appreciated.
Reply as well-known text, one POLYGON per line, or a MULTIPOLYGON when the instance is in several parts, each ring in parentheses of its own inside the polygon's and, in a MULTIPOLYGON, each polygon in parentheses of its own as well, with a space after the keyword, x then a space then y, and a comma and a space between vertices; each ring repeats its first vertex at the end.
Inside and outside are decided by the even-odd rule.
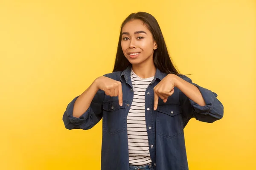
POLYGON ((153 62, 157 44, 141 20, 132 20, 122 28, 122 51, 131 64, 153 62))

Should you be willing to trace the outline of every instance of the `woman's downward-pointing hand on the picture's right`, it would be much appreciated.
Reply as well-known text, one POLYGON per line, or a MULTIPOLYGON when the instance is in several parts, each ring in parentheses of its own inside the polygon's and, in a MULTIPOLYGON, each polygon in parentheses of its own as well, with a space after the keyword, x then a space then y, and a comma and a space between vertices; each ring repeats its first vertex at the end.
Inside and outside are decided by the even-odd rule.
POLYGON ((168 74, 154 87, 154 110, 157 110, 159 97, 166 102, 168 97, 172 96, 177 81, 176 77, 175 74, 168 74))

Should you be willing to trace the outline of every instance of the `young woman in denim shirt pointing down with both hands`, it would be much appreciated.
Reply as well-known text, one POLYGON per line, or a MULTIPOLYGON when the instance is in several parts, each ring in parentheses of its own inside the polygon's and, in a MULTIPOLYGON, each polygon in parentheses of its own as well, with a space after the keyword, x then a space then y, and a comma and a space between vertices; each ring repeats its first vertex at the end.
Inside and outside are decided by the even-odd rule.
POLYGON ((102 119, 102 170, 188 170, 183 128, 189 119, 223 117, 217 94, 181 75, 157 20, 130 14, 122 23, 113 72, 67 106, 67 129, 102 119))

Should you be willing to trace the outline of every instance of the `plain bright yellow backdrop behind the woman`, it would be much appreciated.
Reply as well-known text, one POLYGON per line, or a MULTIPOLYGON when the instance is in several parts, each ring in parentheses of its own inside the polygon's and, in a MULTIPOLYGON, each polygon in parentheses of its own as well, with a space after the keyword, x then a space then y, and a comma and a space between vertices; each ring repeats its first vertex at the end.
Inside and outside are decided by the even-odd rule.
POLYGON ((254 0, 0 0, 0 169, 100 169, 102 122, 67 130, 67 104, 112 71, 122 21, 153 14, 173 61, 224 117, 185 128, 190 170, 256 169, 254 0))

